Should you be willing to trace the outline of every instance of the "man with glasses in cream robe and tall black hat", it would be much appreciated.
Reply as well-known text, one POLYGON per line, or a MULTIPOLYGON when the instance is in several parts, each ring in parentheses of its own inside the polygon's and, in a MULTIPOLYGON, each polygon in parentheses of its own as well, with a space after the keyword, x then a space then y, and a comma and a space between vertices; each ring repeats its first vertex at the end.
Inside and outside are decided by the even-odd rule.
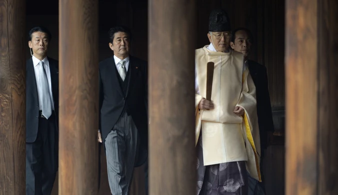
POLYGON ((255 86, 243 54, 229 49, 230 21, 222 9, 209 17, 210 44, 195 51, 197 194, 247 194, 247 171, 260 180, 255 86), (211 100, 207 62, 214 63, 211 100))

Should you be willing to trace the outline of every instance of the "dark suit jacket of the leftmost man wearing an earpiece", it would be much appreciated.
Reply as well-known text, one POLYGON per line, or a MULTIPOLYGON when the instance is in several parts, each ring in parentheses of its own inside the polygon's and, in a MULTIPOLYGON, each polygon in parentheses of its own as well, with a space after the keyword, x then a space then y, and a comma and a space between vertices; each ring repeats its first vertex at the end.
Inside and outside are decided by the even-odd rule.
MULTIPOLYGON (((56 129, 58 121, 58 61, 48 57, 51 90, 54 101, 54 114, 56 117, 56 129)), ((30 57, 26 62, 26 142, 34 142, 38 128, 38 97, 36 88, 33 60, 30 57)))

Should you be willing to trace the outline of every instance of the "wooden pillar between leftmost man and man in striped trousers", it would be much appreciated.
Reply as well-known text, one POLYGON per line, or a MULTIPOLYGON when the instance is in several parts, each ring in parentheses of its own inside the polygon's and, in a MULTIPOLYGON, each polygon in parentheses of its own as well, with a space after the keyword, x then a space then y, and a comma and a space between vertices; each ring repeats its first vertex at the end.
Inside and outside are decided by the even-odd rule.
POLYGON ((98 2, 59 1, 58 194, 98 191, 98 2))

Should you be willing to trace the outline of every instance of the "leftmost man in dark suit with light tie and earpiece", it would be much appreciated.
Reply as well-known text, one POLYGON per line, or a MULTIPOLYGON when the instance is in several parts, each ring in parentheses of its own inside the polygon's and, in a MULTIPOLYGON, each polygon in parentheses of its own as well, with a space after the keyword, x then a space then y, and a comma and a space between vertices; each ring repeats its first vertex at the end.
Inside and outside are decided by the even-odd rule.
POLYGON ((57 171, 58 61, 47 57, 48 29, 29 31, 26 63, 26 195, 50 194, 57 171))

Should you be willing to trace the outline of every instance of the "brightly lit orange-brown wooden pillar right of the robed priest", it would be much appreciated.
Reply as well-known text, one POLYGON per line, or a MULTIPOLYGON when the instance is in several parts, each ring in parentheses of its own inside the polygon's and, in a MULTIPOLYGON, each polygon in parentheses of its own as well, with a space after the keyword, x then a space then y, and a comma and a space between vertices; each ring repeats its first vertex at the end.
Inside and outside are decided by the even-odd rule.
POLYGON ((317 15, 317 0, 286 0, 286 195, 320 194, 317 15))

